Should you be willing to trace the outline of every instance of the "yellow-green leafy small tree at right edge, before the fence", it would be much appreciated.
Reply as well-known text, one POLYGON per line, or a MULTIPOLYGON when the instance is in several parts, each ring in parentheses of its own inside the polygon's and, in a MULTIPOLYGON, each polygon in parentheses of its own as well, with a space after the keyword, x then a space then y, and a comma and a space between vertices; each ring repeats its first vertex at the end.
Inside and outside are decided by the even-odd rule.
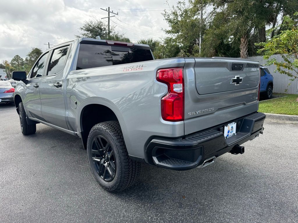
POLYGON ((278 72, 294 80, 298 78, 298 12, 295 12, 292 18, 289 15, 284 16, 283 23, 269 32, 274 29, 280 29, 280 34, 266 43, 256 44, 263 47, 258 53, 264 54, 264 59, 267 59, 266 65, 276 65, 278 72), (280 54, 283 61, 278 61, 274 57, 270 59, 274 54, 280 54))

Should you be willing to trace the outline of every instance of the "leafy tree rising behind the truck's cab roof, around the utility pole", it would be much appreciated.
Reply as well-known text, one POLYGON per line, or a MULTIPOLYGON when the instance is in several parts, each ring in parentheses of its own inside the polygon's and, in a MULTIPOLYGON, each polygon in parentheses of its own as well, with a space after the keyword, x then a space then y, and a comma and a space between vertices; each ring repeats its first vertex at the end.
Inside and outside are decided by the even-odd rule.
POLYGON ((114 40, 121 42, 130 42, 129 38, 125 37, 124 34, 115 31, 115 26, 110 26, 110 36, 108 36, 108 25, 101 20, 89 20, 85 21, 80 27, 80 33, 75 37, 87 37, 93 38, 100 36, 103 40, 114 40))

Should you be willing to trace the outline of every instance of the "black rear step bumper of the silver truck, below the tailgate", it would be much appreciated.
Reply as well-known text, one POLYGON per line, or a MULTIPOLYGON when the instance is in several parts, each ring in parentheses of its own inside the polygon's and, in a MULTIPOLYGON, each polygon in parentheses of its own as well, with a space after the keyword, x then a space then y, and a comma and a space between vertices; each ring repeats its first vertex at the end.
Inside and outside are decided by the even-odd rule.
POLYGON ((244 147, 239 145, 263 134, 265 118, 265 114, 257 112, 231 120, 229 123, 237 122, 240 125, 237 134, 228 139, 223 134, 226 123, 179 139, 152 139, 146 148, 148 161, 158 167, 185 170, 205 167, 229 151, 242 154, 244 147))

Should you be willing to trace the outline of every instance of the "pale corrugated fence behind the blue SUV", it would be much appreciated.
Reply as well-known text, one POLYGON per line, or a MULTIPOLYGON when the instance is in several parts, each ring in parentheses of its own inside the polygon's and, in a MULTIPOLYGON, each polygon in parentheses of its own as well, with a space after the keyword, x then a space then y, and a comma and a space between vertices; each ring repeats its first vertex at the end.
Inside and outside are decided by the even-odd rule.
MULTIPOLYGON (((276 58, 277 61, 283 61, 282 57, 277 54, 273 55, 272 57, 276 58)), ((269 59, 271 59, 270 57, 269 59)), ((248 59, 260 62, 260 65, 264 65, 268 68, 272 76, 274 77, 273 81, 273 92, 280 93, 280 94, 298 94, 298 79, 294 81, 290 81, 291 77, 281 74, 278 71, 275 71, 275 65, 265 65, 266 61, 263 56, 250 56, 248 59), (290 85, 289 85, 290 84, 290 85)), ((293 73, 294 74, 294 73, 293 73)))

